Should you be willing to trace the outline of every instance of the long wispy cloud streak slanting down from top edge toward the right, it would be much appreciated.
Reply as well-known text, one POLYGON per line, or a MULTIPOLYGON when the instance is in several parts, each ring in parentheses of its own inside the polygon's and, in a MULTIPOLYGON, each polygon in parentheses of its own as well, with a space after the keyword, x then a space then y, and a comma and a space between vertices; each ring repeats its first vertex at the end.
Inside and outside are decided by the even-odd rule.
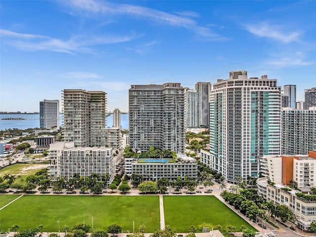
POLYGON ((62 4, 67 4, 72 11, 78 11, 84 14, 90 13, 91 16, 94 16, 96 13, 104 14, 105 16, 108 16, 109 14, 137 16, 139 18, 159 22, 160 24, 186 28, 195 32, 199 36, 209 38, 209 40, 226 39, 225 37, 216 34, 209 28, 199 26, 195 20, 190 18, 193 17, 193 15, 194 17, 197 17, 197 14, 191 11, 182 12, 184 14, 186 13, 186 15, 184 16, 184 14, 182 14, 183 16, 179 16, 148 7, 130 4, 117 4, 107 1, 69 0, 60 2, 62 4))

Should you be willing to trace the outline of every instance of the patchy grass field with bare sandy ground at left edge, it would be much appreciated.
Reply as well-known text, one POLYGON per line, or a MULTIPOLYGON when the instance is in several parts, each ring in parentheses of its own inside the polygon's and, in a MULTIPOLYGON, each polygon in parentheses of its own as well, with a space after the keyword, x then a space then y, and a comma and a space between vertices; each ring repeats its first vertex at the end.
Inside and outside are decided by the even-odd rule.
POLYGON ((22 177, 30 174, 35 174, 38 170, 47 167, 48 164, 43 163, 17 163, 4 167, 0 170, 0 176, 5 174, 18 175, 22 177))

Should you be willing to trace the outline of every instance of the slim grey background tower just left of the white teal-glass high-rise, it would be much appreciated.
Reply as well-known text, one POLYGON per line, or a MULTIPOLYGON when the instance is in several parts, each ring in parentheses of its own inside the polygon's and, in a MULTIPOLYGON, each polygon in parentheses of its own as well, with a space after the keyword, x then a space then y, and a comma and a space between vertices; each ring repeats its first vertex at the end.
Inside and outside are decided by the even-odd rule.
POLYGON ((210 82, 197 82, 197 125, 209 125, 209 93, 211 91, 210 82))

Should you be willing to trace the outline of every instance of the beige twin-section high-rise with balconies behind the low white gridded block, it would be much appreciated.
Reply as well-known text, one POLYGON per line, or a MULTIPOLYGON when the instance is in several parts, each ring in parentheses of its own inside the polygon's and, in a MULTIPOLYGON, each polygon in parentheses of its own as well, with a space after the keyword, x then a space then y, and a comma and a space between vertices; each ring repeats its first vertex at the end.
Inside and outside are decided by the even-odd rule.
POLYGON ((64 89, 64 141, 75 147, 103 147, 107 98, 103 91, 64 89))

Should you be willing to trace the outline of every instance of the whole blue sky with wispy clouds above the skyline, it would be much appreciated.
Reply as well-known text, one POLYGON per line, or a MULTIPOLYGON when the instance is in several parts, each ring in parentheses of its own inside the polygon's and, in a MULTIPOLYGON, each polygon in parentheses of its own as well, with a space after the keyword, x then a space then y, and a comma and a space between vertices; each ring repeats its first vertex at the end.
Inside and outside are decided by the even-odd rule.
POLYGON ((316 87, 316 1, 2 0, 0 111, 39 111, 62 89, 103 90, 128 111, 131 84, 268 75, 316 87))

